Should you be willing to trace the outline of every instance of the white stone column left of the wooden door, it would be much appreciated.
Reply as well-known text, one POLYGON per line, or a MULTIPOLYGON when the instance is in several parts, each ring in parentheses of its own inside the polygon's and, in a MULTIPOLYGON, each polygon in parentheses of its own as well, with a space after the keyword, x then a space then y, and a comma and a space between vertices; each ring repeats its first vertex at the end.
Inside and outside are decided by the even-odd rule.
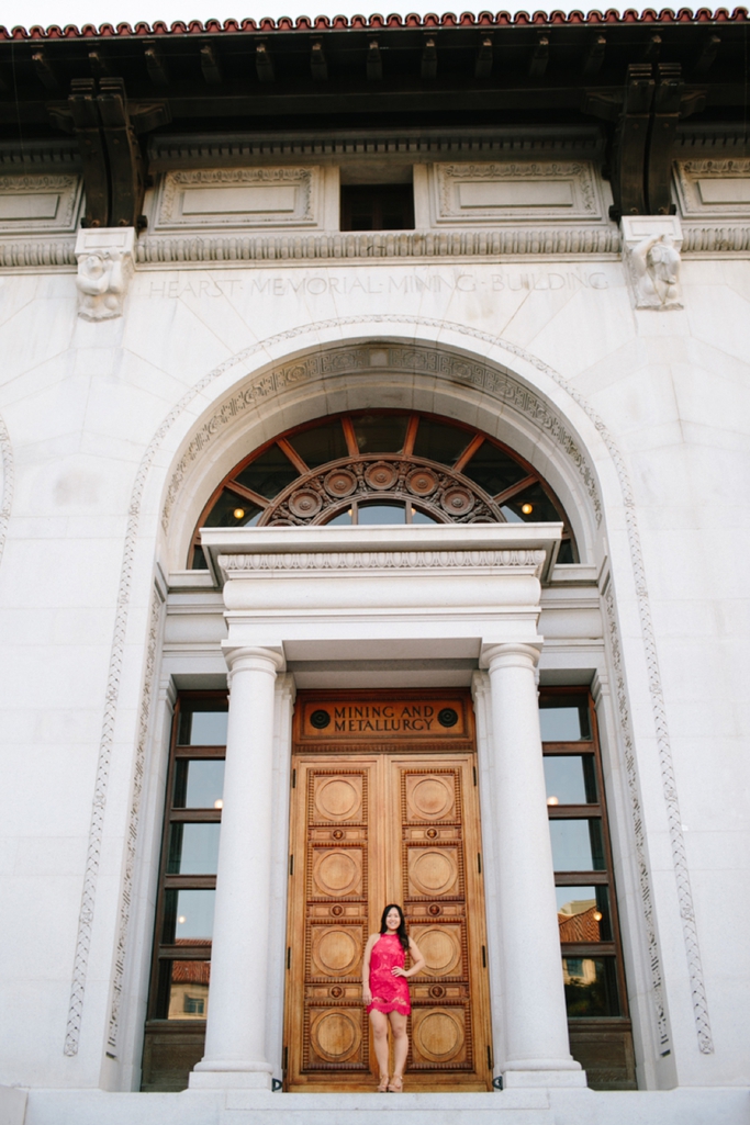
POLYGON ((206 1047, 191 1088, 270 1089, 266 1052, 274 687, 283 657, 232 648, 206 1047))

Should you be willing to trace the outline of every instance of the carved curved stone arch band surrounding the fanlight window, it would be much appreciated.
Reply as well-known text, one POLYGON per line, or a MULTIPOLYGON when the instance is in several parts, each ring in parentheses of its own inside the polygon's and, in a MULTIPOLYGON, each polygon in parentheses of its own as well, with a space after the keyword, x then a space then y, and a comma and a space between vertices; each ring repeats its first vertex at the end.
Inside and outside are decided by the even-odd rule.
POLYGON ((161 510, 171 569, 182 569, 200 512, 224 476, 291 426, 341 411, 443 415, 517 451, 547 480, 591 561, 602 507, 592 465, 547 398, 499 363, 429 343, 375 339, 316 349, 255 372, 215 402, 184 443, 161 510))

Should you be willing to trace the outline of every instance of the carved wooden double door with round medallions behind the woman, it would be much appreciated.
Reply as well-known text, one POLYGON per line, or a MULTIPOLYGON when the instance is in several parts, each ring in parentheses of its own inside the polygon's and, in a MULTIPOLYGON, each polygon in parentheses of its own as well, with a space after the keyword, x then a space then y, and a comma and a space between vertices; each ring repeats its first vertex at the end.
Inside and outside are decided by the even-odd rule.
POLYGON ((402 722, 387 742, 381 723, 369 744, 365 731, 349 745, 341 744, 351 730, 314 727, 325 714, 332 726, 346 704, 337 709, 320 696, 298 701, 285 1089, 374 1088, 361 958, 383 907, 399 902, 426 960, 423 972, 410 981, 408 1089, 486 1090, 492 1044, 471 700, 450 696, 447 706, 445 698, 435 701, 440 706, 425 702, 425 693, 418 703, 409 695, 392 703, 376 700, 373 694, 349 704, 376 716, 390 709, 396 726, 405 710, 413 722, 407 721, 407 729, 402 722), (417 705, 432 719, 434 731, 419 726, 417 705), (455 730, 459 722, 450 720, 459 711, 455 730), (447 726, 440 727, 438 713, 447 726))

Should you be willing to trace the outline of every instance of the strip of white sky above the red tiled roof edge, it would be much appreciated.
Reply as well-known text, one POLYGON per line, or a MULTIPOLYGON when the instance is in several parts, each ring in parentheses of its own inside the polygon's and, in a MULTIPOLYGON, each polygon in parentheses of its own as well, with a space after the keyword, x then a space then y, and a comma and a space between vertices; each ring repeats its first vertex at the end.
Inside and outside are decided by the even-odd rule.
MULTIPOLYGON (((50 24, 60 24, 61 26, 75 24, 80 28, 83 24, 116 25, 125 22, 133 26, 139 20, 153 24, 158 19, 172 24, 178 19, 200 19, 204 22, 207 19, 244 19, 249 16, 255 19, 259 19, 261 16, 273 16, 277 19, 279 16, 314 17, 321 12, 327 16, 354 16, 357 14, 368 16, 372 11, 381 11, 384 16, 392 11, 400 11, 402 15, 410 11, 419 15, 429 11, 455 11, 456 15, 461 15, 462 11, 467 10, 474 12, 481 10, 534 12, 539 8, 545 11, 554 9, 568 12, 575 8, 588 11, 595 7, 591 3, 557 3, 554 0, 547 4, 541 3, 539 0, 532 4, 503 4, 498 0, 494 0, 493 3, 468 4, 464 0, 461 6, 454 8, 448 7, 445 0, 439 4, 429 2, 429 0, 428 2, 413 0, 408 4, 399 2, 399 0, 395 2, 394 0, 382 0, 381 6, 376 7, 377 2, 378 0, 375 2, 373 0, 366 0, 366 2, 363 0, 255 0, 255 2, 253 0, 3 0, 0 6, 0 24, 8 28, 18 24, 27 28, 34 24, 41 24, 43 27, 48 27, 50 24)), ((622 6, 602 3, 599 10, 606 10, 610 7, 623 11, 625 8, 632 7, 632 3, 623 3, 622 6)), ((657 7, 660 8, 661 4, 657 7)), ((675 3, 673 7, 677 10, 677 8, 682 7, 682 3, 675 3)), ((733 8, 734 4, 729 7, 733 8)))

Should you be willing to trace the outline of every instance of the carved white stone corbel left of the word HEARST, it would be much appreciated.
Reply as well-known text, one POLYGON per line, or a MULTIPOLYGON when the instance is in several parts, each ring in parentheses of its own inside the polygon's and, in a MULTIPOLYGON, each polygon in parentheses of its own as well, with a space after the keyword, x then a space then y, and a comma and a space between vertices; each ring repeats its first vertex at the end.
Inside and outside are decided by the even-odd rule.
POLYGON ((123 315, 127 285, 133 276, 135 230, 99 227, 79 231, 78 315, 84 321, 110 321, 123 315))

